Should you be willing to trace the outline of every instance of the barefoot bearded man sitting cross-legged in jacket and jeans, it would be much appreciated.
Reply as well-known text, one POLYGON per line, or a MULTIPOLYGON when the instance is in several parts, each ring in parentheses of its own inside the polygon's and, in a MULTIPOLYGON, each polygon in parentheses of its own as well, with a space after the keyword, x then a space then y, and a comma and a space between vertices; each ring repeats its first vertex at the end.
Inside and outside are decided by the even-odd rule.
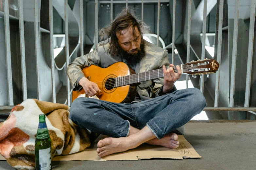
POLYGON ((137 87, 132 103, 118 104, 93 98, 77 98, 70 108, 70 119, 81 128, 109 135, 97 144, 98 156, 104 157, 148 143, 168 148, 179 146, 175 129, 187 123, 206 106, 196 88, 176 90, 175 73, 168 53, 143 39, 146 26, 129 9, 123 9, 113 23, 100 31, 106 41, 96 49, 78 57, 68 66, 67 74, 73 90, 83 88, 89 96, 100 95, 97 84, 84 77, 82 69, 91 64, 108 67, 127 63, 136 73, 163 68, 164 78, 144 81, 137 87))

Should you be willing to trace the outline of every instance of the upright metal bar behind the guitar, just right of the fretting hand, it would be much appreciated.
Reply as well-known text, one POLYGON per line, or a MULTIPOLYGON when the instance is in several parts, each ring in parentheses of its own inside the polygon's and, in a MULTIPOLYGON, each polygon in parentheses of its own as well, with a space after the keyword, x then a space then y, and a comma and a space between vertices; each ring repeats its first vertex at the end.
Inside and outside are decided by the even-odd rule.
MULTIPOLYGON (((190 60, 190 27, 191 27, 191 0, 188 1, 187 63, 189 63, 189 60, 190 60)), ((186 75, 186 88, 188 88, 188 75, 186 75)))

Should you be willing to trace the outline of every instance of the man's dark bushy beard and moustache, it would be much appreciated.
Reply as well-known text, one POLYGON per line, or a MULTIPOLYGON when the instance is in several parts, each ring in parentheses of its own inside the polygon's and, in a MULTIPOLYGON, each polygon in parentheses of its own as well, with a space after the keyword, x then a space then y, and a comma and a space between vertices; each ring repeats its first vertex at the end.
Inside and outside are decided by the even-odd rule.
POLYGON ((121 47, 119 49, 120 57, 126 60, 129 66, 135 66, 140 63, 140 61, 145 57, 145 44, 141 41, 141 46, 135 50, 130 50, 129 52, 123 50, 121 47), (137 51, 136 53, 132 53, 137 51))

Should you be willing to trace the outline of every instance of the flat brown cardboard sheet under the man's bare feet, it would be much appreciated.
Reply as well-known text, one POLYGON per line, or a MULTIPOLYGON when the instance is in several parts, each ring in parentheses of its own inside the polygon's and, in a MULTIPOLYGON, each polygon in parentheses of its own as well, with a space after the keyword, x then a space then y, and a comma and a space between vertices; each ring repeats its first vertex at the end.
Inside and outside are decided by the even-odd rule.
MULTIPOLYGON (((97 155, 97 143, 100 139, 106 136, 100 135, 94 144, 89 148, 81 152, 65 155, 55 156, 53 161, 75 161, 75 160, 89 160, 89 161, 119 161, 119 160, 142 160, 151 158, 164 158, 164 159, 183 159, 183 158, 201 158, 196 150, 190 145, 190 143, 182 135, 179 136, 179 148, 170 149, 161 146, 153 146, 143 144, 135 149, 128 150, 126 152, 116 153, 104 158, 100 158, 97 155)), ((0 155, 0 160, 5 160, 0 155)))

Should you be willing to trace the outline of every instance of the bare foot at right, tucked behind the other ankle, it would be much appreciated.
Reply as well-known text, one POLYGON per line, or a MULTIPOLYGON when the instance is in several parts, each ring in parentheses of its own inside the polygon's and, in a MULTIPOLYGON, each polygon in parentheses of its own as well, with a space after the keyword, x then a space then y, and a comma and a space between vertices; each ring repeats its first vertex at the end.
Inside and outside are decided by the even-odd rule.
POLYGON ((178 148, 179 147, 179 141, 178 141, 178 135, 175 133, 166 134, 162 139, 151 139, 146 142, 150 145, 160 145, 166 148, 178 148))

